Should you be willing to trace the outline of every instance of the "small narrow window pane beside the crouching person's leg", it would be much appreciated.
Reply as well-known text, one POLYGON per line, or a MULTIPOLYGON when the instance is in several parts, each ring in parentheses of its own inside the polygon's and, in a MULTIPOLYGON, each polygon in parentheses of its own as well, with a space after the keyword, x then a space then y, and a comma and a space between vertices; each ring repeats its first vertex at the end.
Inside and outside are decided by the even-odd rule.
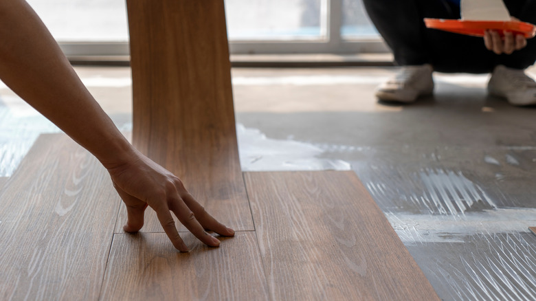
POLYGON ((379 36, 376 28, 368 19, 363 1, 342 0, 342 12, 341 35, 343 38, 379 36))

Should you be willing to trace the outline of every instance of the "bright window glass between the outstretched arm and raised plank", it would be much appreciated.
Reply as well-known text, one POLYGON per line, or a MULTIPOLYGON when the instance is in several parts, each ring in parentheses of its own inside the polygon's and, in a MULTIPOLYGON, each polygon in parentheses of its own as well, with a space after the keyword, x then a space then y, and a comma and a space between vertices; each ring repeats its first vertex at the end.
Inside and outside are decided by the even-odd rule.
POLYGON ((129 41, 124 0, 27 0, 56 41, 129 41))

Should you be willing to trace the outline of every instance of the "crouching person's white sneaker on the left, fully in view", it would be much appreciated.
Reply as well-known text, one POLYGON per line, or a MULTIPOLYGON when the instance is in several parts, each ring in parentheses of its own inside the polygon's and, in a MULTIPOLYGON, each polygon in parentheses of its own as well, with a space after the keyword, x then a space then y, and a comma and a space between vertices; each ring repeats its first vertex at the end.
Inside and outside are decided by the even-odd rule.
POLYGON ((380 100, 414 102, 419 96, 434 92, 432 66, 404 66, 394 78, 384 82, 376 89, 380 100))

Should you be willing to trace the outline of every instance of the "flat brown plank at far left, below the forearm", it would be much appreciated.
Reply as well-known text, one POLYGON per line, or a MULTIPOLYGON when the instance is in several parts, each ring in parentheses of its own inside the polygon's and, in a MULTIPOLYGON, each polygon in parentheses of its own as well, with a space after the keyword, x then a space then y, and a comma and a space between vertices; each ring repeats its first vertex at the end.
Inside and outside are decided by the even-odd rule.
POLYGON ((0 192, 0 300, 96 300, 119 202, 91 154, 41 135, 0 192))

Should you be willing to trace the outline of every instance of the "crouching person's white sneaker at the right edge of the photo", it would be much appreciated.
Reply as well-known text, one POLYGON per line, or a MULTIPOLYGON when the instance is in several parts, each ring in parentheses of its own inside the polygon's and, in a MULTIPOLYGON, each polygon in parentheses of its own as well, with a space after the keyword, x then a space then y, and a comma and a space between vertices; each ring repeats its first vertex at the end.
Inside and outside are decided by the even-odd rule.
POLYGON ((506 98, 514 106, 536 104, 536 82, 521 69, 498 65, 489 79, 488 91, 506 98))

